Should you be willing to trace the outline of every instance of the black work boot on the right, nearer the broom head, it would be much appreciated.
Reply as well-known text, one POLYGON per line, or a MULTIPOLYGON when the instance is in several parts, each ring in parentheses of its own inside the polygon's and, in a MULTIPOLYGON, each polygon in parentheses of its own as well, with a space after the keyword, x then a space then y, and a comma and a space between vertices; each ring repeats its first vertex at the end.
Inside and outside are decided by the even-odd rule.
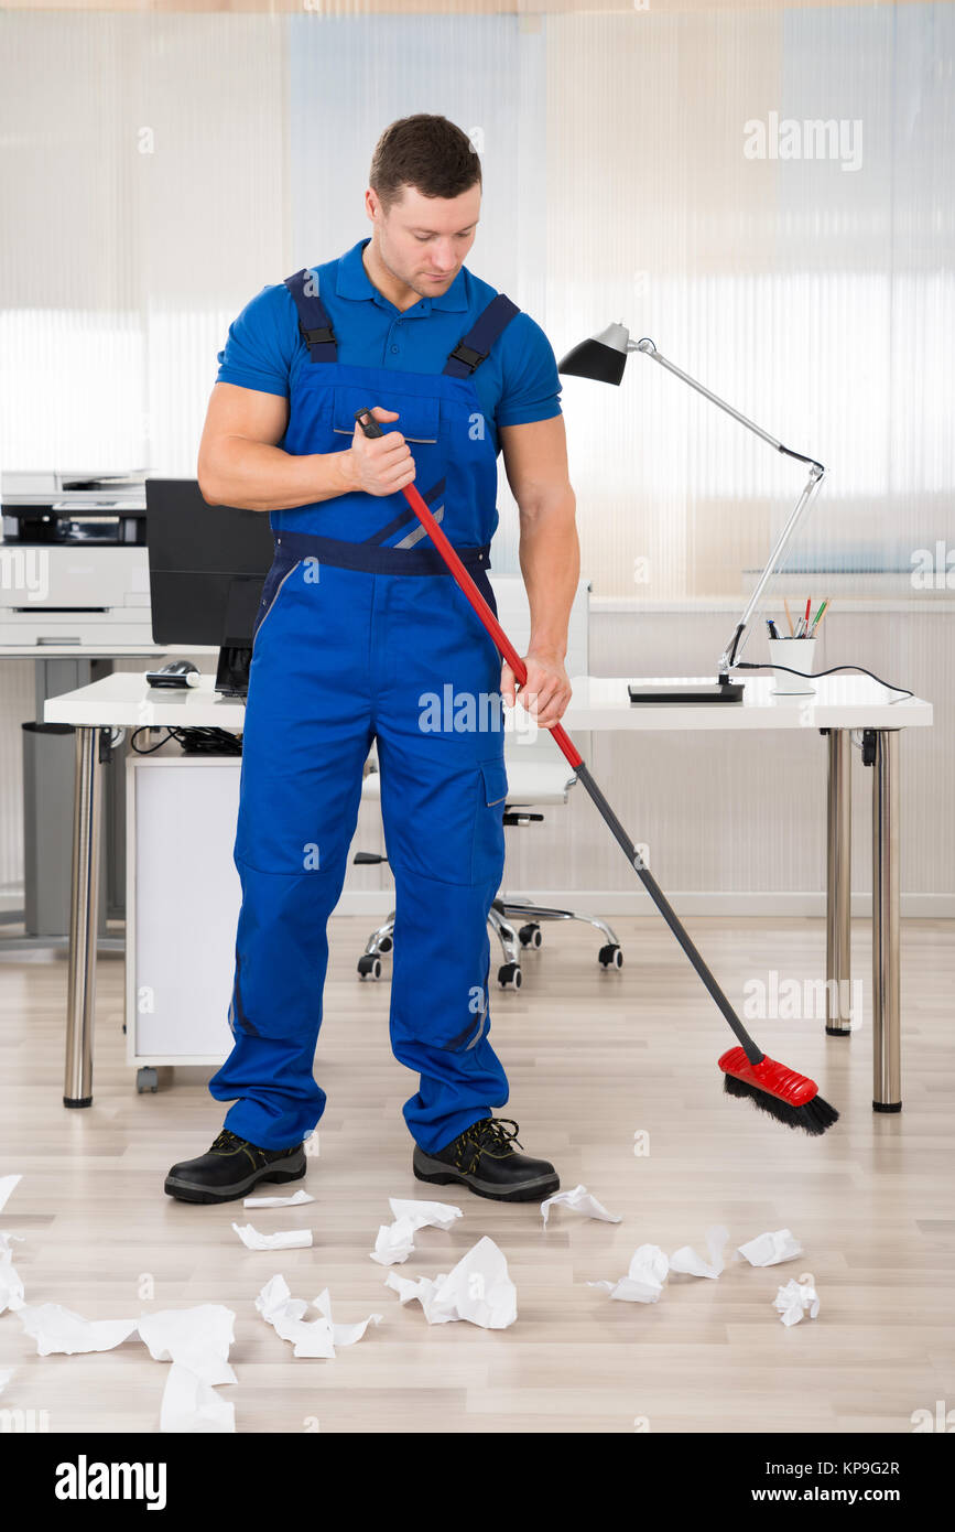
POLYGON ((435 1186, 458 1181, 477 1196, 490 1196, 496 1203, 534 1203, 556 1192, 560 1177, 554 1166, 548 1160, 514 1154, 511 1140, 520 1143, 516 1121, 510 1117, 482 1117, 433 1154, 425 1154, 415 1144, 412 1169, 419 1181, 432 1181, 435 1186))

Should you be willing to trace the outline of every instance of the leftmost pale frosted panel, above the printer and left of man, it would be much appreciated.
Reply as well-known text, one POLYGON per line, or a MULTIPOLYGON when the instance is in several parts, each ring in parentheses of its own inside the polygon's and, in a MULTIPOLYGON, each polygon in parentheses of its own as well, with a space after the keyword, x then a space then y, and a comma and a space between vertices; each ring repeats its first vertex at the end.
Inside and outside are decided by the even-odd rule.
POLYGON ((191 475, 280 279, 288 20, 0 17, 0 466, 191 475))

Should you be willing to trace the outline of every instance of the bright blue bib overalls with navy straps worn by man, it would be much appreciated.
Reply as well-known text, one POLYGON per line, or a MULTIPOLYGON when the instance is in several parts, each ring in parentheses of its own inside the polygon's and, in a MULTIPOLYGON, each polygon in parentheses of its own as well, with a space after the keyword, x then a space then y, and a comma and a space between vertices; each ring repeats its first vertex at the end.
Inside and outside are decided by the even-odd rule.
MULTIPOLYGON (((355 411, 398 411, 415 486, 493 610, 496 450, 471 372, 519 309, 497 294, 441 374, 343 366, 318 297, 334 264, 286 279, 309 348, 282 446, 346 449, 355 411)), ((392 429, 386 424, 384 429, 392 429)), ((404 495, 272 512, 256 620, 236 866, 233 1051, 210 1082, 225 1126, 298 1143, 324 1109, 312 1075, 363 768, 378 740, 395 876, 390 1039, 419 1074, 404 1117, 425 1152, 504 1106, 488 1040, 487 916, 504 875, 500 659, 404 495)))

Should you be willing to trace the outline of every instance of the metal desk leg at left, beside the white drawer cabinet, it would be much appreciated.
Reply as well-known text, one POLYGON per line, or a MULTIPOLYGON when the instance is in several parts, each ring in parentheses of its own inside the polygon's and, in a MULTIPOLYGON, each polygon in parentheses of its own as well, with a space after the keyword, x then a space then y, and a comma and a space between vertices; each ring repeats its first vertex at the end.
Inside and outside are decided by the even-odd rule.
POLYGON ((77 729, 64 1106, 90 1106, 93 1100, 93 1008, 96 1003, 103 800, 99 737, 99 729, 77 729))

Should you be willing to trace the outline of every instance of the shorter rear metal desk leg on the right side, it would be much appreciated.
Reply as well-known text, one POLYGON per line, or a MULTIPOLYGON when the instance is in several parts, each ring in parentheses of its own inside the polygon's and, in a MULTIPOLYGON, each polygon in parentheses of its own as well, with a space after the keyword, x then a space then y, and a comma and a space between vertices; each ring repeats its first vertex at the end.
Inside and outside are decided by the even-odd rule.
POLYGON ((852 735, 828 731, 830 780, 826 792, 826 1033, 852 1031, 852 735))

